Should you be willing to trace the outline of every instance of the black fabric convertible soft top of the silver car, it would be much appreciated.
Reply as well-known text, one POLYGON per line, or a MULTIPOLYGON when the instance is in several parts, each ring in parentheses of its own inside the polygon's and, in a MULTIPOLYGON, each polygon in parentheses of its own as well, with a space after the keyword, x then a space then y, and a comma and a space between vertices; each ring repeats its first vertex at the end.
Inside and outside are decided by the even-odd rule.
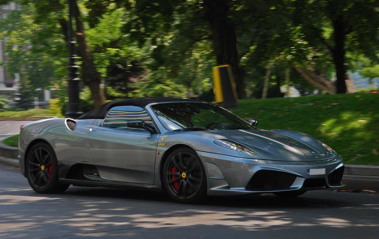
POLYGON ((182 102, 201 102, 200 100, 189 100, 189 99, 181 99, 181 98, 173 98, 173 97, 142 97, 142 98, 130 98, 125 100, 114 100, 104 105, 100 105, 99 107, 92 109, 91 111, 83 114, 78 119, 104 119, 105 114, 108 109, 118 106, 118 105, 133 105, 139 107, 145 107, 150 103, 158 103, 158 102, 173 102, 173 101, 182 101, 182 102))

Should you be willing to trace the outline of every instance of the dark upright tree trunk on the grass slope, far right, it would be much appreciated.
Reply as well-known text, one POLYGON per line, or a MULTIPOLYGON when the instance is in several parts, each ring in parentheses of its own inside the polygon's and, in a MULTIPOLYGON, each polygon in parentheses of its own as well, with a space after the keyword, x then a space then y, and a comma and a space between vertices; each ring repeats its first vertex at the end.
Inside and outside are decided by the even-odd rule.
POLYGON ((345 27, 342 17, 337 17, 333 20, 334 28, 334 50, 333 59, 335 63, 335 70, 337 75, 337 93, 346 93, 345 84, 345 27))

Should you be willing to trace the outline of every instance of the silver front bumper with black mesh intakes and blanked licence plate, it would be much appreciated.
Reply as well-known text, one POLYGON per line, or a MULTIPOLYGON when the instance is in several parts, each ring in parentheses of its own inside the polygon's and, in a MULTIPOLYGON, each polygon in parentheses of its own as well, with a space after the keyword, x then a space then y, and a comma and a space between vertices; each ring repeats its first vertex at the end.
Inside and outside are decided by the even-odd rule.
POLYGON ((275 161, 236 158, 200 151, 197 151, 197 154, 203 162, 207 175, 208 195, 262 194, 346 186, 340 183, 344 167, 340 156, 319 161, 275 161), (325 169, 325 173, 309 175, 312 174, 309 173, 312 169, 325 169), (258 171, 260 173, 255 175, 258 171), (253 178, 254 175, 256 177, 253 178), (336 175, 338 177, 335 177, 336 175), (271 182, 275 177, 277 177, 276 184, 271 182), (281 179, 287 180, 288 177, 290 177, 290 183, 286 186, 285 182, 281 183, 283 181, 281 179), (258 178, 259 180, 266 179, 266 182, 255 183, 258 178), (279 186, 271 187, 270 185, 279 186))

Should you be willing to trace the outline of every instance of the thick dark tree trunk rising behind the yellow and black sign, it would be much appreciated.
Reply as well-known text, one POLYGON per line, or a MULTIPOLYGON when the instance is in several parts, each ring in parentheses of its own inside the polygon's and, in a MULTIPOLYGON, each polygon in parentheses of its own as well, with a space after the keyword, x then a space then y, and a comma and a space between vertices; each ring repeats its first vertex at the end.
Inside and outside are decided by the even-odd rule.
POLYGON ((204 0, 205 17, 211 26, 217 64, 230 65, 238 98, 241 99, 244 97, 244 82, 242 73, 238 69, 235 26, 227 21, 228 10, 226 0, 204 0))

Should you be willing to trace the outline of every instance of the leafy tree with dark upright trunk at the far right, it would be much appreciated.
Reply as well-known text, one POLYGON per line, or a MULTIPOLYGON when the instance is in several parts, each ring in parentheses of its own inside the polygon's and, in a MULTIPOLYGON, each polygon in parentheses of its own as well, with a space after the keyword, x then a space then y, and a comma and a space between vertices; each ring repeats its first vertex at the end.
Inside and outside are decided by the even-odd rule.
POLYGON ((327 48, 337 76, 337 93, 346 92, 346 52, 376 58, 379 9, 376 1, 297 0, 294 23, 302 25, 313 47, 327 48))

